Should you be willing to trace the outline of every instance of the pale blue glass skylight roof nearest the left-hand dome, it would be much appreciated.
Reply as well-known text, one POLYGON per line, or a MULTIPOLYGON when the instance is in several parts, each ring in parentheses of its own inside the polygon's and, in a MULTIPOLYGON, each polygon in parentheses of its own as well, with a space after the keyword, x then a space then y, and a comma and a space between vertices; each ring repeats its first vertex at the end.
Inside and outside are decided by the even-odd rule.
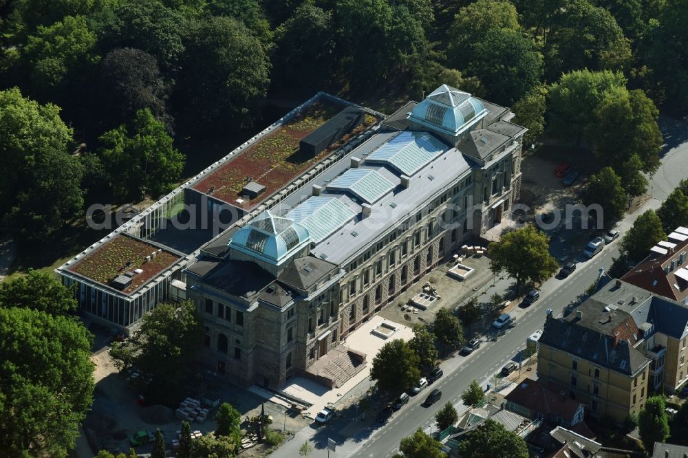
POLYGON ((299 223, 318 243, 356 215, 336 197, 313 196, 294 208, 287 217, 299 223))

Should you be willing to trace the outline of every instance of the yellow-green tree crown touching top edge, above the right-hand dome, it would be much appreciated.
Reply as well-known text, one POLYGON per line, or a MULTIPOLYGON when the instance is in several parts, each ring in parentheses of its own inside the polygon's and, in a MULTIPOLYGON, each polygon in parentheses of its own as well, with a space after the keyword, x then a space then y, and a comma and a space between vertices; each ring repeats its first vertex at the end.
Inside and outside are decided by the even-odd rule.
POLYGON ((447 31, 447 58, 463 68, 473 57, 473 44, 493 30, 519 30, 516 8, 508 1, 478 0, 461 8, 447 31))

